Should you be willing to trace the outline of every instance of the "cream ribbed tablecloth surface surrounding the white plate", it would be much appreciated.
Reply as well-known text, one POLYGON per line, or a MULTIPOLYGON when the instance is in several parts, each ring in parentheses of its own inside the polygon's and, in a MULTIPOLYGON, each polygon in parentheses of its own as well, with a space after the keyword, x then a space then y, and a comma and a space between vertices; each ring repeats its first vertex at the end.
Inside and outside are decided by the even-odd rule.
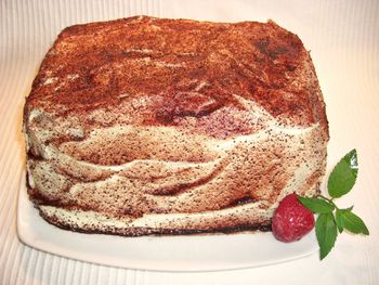
POLYGON ((378 284, 379 2, 373 1, 0 1, 0 284, 378 284), (54 256, 19 242, 16 208, 25 154, 24 99, 64 27, 132 15, 222 22, 274 20, 311 51, 327 104, 329 161, 358 152, 354 205, 370 235, 341 234, 317 255, 245 270, 169 273, 117 269, 54 256))

